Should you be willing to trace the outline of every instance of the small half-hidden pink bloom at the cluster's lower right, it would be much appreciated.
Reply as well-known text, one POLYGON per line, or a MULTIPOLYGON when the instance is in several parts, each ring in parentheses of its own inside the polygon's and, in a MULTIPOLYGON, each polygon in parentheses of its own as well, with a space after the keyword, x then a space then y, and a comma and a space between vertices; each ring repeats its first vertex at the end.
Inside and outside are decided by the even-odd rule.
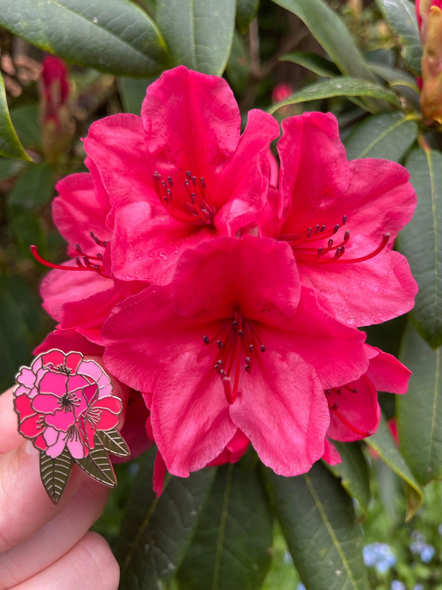
MULTIPOLYGON (((325 390, 330 411, 327 436, 334 440, 351 442, 374 434, 381 417, 377 391, 405 394, 408 389, 411 371, 407 367, 375 346, 364 348, 370 359, 367 372, 344 386, 325 390)), ((325 460, 339 463, 337 450, 330 441, 328 445, 325 460)))

